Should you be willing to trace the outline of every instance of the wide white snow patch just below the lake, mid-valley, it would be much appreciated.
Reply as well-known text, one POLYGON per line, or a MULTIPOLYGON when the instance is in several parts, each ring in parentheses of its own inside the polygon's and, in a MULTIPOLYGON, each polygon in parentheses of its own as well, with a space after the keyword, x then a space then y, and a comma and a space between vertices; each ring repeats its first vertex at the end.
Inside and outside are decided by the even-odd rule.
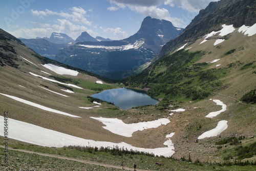
POLYGON ((103 126, 104 129, 109 130, 114 134, 118 134, 125 137, 132 137, 132 134, 136 131, 156 128, 162 124, 166 125, 170 122, 169 119, 161 118, 154 121, 126 124, 122 120, 117 118, 91 118, 96 119, 105 124, 106 126, 103 126))

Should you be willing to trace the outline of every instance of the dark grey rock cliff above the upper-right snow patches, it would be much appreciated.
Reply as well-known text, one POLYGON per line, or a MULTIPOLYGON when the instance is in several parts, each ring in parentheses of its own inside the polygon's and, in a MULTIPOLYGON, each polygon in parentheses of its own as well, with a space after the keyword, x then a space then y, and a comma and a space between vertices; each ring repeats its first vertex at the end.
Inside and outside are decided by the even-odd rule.
POLYGON ((191 21, 182 34, 167 42, 157 58, 162 57, 177 46, 193 42, 198 38, 220 30, 223 24, 238 28, 243 25, 252 26, 256 23, 255 0, 221 0, 211 2, 191 21))

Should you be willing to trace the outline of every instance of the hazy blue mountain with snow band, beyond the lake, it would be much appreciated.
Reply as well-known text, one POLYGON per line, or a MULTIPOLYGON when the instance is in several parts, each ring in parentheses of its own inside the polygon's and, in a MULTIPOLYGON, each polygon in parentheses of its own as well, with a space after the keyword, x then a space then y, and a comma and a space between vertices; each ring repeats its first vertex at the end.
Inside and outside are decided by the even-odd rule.
POLYGON ((97 41, 84 32, 81 37, 86 38, 76 39, 82 42, 60 50, 55 60, 108 78, 123 79, 152 59, 165 42, 182 31, 166 20, 148 16, 136 34, 123 40, 97 41))

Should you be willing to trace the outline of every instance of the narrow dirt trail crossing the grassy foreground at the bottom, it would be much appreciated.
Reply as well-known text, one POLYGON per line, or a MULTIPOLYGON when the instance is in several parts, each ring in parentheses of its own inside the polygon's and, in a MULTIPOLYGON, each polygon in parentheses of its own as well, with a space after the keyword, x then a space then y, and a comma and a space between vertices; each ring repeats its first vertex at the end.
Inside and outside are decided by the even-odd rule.
MULTIPOLYGON (((0 145, 1 148, 5 148, 5 146, 0 145)), ((51 154, 46 154, 46 153, 39 153, 39 152, 33 152, 33 151, 27 151, 26 149, 14 149, 11 147, 8 147, 9 150, 14 150, 18 152, 25 152, 25 153, 30 153, 30 154, 37 154, 40 156, 47 156, 47 157, 55 157, 58 159, 63 159, 63 160, 71 160, 71 161, 76 161, 76 162, 81 162, 81 163, 86 163, 86 164, 93 164, 93 165, 98 165, 98 166, 103 166, 103 167, 112 167, 112 168, 118 168, 122 170, 122 166, 115 166, 115 165, 110 165, 110 164, 103 164, 103 163, 98 163, 94 161, 86 161, 86 160, 81 160, 81 159, 75 159, 75 158, 70 158, 70 157, 63 157, 59 155, 51 155, 51 154)), ((134 168, 129 168, 124 166, 124 170, 134 170, 134 168)), ((151 171, 151 170, 144 170, 144 169, 137 169, 138 171, 151 171)))

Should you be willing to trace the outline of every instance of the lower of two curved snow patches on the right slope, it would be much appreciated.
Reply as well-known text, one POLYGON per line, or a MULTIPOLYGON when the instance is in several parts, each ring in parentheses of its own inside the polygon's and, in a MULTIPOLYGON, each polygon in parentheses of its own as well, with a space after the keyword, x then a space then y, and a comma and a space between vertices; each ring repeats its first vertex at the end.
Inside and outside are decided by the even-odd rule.
POLYGON ((220 135, 226 129, 227 129, 227 121, 226 120, 219 121, 218 125, 216 126, 215 129, 212 129, 210 131, 203 133, 202 135, 200 135, 198 137, 198 139, 203 139, 203 138, 207 138, 207 137, 215 137, 217 135, 220 135))

